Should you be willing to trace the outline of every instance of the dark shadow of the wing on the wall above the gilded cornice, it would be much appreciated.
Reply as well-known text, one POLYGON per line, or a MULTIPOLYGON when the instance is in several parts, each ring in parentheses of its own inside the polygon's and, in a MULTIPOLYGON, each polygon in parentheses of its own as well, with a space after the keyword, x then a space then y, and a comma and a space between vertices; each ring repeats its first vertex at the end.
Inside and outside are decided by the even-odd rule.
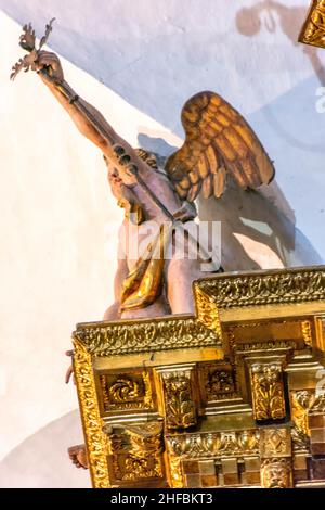
MULTIPOLYGON (((159 165, 177 150, 160 138, 139 133, 139 144, 158 155, 159 165)), ((230 177, 219 200, 198 197, 200 221, 221 221, 225 271, 318 265, 322 259, 296 228, 296 217, 276 181, 242 190, 230 177)))

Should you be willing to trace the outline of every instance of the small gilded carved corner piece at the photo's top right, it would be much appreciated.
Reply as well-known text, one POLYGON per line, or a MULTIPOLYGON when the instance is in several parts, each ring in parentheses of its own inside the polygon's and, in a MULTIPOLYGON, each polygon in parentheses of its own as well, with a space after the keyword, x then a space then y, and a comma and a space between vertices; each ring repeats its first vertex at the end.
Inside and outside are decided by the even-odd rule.
POLYGON ((299 42, 325 48, 325 1, 312 0, 299 42))

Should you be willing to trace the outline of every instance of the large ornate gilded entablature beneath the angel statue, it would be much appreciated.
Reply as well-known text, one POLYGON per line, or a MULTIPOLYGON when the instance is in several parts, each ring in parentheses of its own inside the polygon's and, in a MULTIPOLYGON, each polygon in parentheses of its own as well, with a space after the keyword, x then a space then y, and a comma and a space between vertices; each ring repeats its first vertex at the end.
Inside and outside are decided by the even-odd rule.
MULTIPOLYGON (((288 280, 291 273, 297 279, 302 272, 288 271, 288 280)), ((278 273, 270 276, 274 279, 278 273)), ((322 277, 323 268, 311 268, 310 273, 322 277)), ((250 276, 245 278, 249 280, 250 276)), ((202 284, 205 281, 197 282, 202 284)), ((317 423, 322 425, 323 421, 317 415, 325 412, 325 397, 315 397, 317 381, 313 377, 322 367, 317 345, 325 299, 299 307, 295 303, 285 307, 275 303, 274 314, 271 310, 269 315, 268 305, 251 308, 251 315, 245 313, 242 317, 242 310, 233 306, 236 299, 242 303, 239 294, 231 298, 226 311, 206 288, 199 296, 197 317, 98 322, 77 328, 76 377, 93 485, 169 484, 185 488, 196 483, 197 487, 261 484, 273 488, 290 487, 292 480, 297 486, 314 485, 320 463, 313 458, 312 447, 315 451, 318 447, 317 423), (216 319, 208 323, 204 318, 203 310, 208 306, 218 307, 223 321, 224 350, 220 357, 222 345, 216 319), (173 337, 168 336, 169 332, 173 337), (285 404, 287 364, 290 409, 285 404), (258 424, 253 424, 253 418, 258 424), (271 420, 283 421, 271 424, 271 420)), ((252 305, 257 304, 256 296, 252 305)), ((281 305, 286 303, 282 296, 278 301, 281 305)))

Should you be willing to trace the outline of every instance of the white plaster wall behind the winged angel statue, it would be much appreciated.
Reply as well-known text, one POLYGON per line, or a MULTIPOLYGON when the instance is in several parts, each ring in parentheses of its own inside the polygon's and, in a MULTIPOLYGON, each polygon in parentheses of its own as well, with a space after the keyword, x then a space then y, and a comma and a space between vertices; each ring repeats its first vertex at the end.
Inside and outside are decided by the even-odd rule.
MULTIPOLYGON (((256 234, 262 229, 263 246, 271 245, 275 256, 278 238, 287 242, 287 265, 313 264, 325 256, 325 116, 315 110, 316 89, 325 84, 325 51, 307 53, 295 43, 308 4, 0 0, 3 486, 88 483, 84 473, 69 469, 64 452, 78 435, 76 415, 69 415, 77 407, 75 388, 63 382, 64 350, 75 323, 100 319, 112 299, 121 217, 101 155, 37 76, 22 74, 14 84, 9 81, 11 65, 22 54, 21 24, 32 21, 42 35, 44 24, 56 16, 50 43, 65 58, 66 78, 133 145, 169 153, 181 143, 184 101, 204 89, 223 94, 248 117, 275 160, 277 184, 265 192, 271 193, 266 212, 263 202, 250 203, 239 194, 236 208, 224 201, 204 204, 203 215, 222 214, 225 240, 233 243, 230 225, 236 219, 236 240, 252 259, 262 250, 256 234), (272 214, 274 201, 287 221, 272 214), (262 225, 251 222, 259 212, 262 225), (253 234, 244 229, 247 221, 253 234), (247 232, 252 245, 245 241, 247 232), (50 437, 58 456, 47 449, 50 437), (51 475, 52 462, 56 471, 62 469, 62 479, 56 471, 51 475)), ((242 262, 233 260, 238 266, 242 262)))

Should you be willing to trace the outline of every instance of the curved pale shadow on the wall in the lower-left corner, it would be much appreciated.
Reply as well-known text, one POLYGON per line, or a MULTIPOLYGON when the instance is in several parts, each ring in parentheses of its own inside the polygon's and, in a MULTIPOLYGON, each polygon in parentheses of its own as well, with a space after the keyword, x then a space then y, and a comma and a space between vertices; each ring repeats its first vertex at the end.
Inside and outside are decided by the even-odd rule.
POLYGON ((67 448, 80 443, 79 411, 25 439, 0 462, 1 488, 89 488, 89 471, 76 468, 67 448))

